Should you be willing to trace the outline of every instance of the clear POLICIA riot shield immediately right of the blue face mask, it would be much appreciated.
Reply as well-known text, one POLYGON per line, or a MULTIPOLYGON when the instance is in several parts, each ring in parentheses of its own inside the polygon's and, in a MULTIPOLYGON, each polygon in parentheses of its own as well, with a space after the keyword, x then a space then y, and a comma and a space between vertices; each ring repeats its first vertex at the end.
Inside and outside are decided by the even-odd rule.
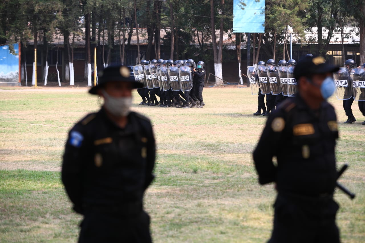
POLYGON ((338 100, 349 100, 352 98, 352 85, 350 70, 347 67, 340 67, 337 72, 333 73, 333 79, 336 85, 336 97, 338 100))

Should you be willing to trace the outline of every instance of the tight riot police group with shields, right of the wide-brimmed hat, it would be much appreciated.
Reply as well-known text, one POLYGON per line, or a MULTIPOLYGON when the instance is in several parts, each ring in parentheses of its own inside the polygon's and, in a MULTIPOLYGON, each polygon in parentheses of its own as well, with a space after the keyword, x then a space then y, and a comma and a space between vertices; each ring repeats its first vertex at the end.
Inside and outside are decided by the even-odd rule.
POLYGON ((139 104, 203 108, 204 62, 199 61, 196 68, 195 66, 193 59, 142 60, 133 67, 135 80, 143 84, 143 88, 138 89, 138 94, 142 97, 139 104))

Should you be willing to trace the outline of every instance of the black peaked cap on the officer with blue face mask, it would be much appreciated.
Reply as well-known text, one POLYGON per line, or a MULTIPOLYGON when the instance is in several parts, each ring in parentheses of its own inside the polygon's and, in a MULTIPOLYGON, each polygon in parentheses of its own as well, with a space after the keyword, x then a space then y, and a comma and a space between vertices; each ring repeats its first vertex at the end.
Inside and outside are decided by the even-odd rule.
POLYGON ((304 57, 297 62, 294 69, 294 77, 298 81, 300 77, 310 77, 313 74, 333 73, 339 67, 326 63, 323 57, 304 57))

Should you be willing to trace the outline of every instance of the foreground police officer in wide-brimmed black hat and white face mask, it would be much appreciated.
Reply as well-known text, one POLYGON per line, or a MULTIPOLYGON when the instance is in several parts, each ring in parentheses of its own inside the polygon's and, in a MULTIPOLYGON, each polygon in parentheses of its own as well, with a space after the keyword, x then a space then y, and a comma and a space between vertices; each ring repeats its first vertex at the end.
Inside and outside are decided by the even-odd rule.
POLYGON ((106 67, 89 90, 103 106, 69 132, 62 182, 84 215, 79 242, 151 242, 143 193, 154 178, 155 139, 150 120, 129 109, 141 85, 127 67, 106 67))

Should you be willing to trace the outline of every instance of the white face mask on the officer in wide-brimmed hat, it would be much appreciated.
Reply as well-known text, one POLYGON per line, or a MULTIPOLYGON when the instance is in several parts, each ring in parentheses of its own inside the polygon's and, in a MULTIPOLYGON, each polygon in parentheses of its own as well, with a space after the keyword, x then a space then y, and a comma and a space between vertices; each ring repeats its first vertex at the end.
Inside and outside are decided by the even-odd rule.
POLYGON ((132 97, 113 97, 103 89, 101 93, 104 95, 104 107, 114 116, 128 116, 132 105, 132 97))

